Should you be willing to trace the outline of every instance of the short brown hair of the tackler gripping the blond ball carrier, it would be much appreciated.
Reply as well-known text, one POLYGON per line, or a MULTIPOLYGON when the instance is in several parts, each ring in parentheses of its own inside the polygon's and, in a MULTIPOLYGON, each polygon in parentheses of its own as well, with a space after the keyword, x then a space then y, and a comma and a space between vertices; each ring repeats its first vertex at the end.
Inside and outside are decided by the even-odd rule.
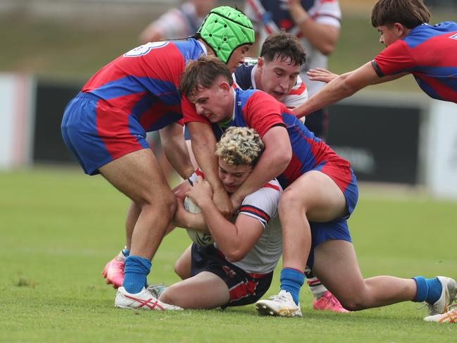
POLYGON ((180 77, 180 91, 190 98, 197 94, 199 87, 210 88, 215 79, 223 76, 232 86, 233 78, 230 69, 215 56, 200 56, 196 61, 190 61, 180 77))

